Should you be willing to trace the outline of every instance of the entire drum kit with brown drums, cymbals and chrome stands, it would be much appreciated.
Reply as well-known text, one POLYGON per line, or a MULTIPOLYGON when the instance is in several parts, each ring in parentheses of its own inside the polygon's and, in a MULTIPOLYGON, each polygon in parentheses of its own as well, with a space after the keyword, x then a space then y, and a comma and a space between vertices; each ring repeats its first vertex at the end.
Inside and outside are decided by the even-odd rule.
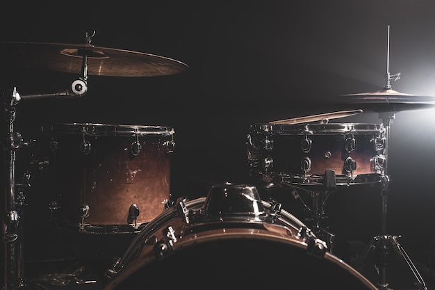
MULTIPOLYGON (((171 58, 95 47, 91 45, 93 35, 86 34, 85 42, 78 45, 0 42, 5 59, 80 74, 63 92, 20 95, 16 88, 3 92, 5 290, 35 287, 23 274, 22 201, 28 179, 17 182, 15 158, 17 150, 29 143, 14 130, 19 102, 81 97, 88 90, 88 74, 161 76, 188 69, 171 58)), ((189 284, 190 288, 204 288, 204 283, 212 282, 217 287, 390 289, 386 270, 392 249, 407 262, 418 289, 427 290, 397 236, 386 231, 388 139, 396 112, 433 106, 435 99, 392 90, 390 81, 398 77, 389 74, 387 61, 383 90, 340 96, 347 104, 369 106, 379 112, 382 124, 329 122, 363 113, 357 109, 249 126, 249 175, 261 184, 279 184, 291 194, 309 192, 314 207, 309 225, 283 209, 277 200, 262 200, 256 185, 250 183, 214 184, 205 197, 171 200, 174 128, 100 123, 51 127, 52 155, 49 161, 38 164, 55 172, 57 200, 49 204, 51 219, 56 227, 85 234, 134 234, 124 255, 102 275, 104 290, 138 285, 167 289, 187 283, 186 277, 197 282, 189 284), (382 231, 352 267, 334 255, 334 234, 322 225, 323 204, 337 188, 365 184, 381 186, 382 231), (371 250, 379 257, 377 286, 358 268, 371 250), (257 276, 260 270, 264 279, 257 276)))

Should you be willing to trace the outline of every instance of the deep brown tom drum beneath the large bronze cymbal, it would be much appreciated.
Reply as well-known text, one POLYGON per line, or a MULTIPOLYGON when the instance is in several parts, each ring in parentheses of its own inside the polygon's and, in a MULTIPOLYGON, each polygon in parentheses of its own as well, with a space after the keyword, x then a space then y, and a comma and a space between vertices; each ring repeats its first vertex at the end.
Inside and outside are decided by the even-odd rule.
POLYGON ((138 232, 163 213, 170 200, 172 127, 54 124, 51 135, 60 227, 138 232))

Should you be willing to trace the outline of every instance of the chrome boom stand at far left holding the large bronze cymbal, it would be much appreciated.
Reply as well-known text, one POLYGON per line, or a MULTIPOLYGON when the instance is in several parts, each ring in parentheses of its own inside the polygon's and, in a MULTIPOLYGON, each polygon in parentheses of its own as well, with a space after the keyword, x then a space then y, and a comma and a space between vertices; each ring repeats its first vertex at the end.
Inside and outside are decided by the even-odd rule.
MULTIPOLYGON (((93 35, 92 35, 93 36, 93 35)), ((91 36, 91 37, 92 37, 91 36)), ((90 38, 86 34, 88 43, 90 38)), ((14 131, 16 106, 21 99, 40 99, 44 97, 80 97, 88 90, 88 66, 87 57, 92 50, 81 51, 82 67, 79 79, 72 81, 71 88, 64 92, 55 92, 42 95, 20 96, 17 88, 12 92, 3 92, 6 117, 6 138, 3 139, 5 150, 5 214, 3 216, 3 243, 5 244, 5 267, 4 267, 4 290, 23 289, 28 285, 24 279, 23 246, 22 246, 22 205, 24 195, 20 191, 19 198, 16 195, 17 184, 15 180, 16 152, 28 145, 24 143, 22 135, 14 131), (18 202, 17 202, 18 200, 18 202)))

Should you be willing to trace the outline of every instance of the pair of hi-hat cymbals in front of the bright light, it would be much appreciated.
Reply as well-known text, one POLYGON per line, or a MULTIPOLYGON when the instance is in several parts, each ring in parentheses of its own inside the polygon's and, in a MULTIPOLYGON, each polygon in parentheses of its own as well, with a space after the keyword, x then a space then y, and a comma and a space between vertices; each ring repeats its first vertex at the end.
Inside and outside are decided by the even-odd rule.
POLYGON ((405 94, 391 88, 342 95, 340 99, 348 104, 365 104, 373 111, 404 111, 435 105, 435 97, 405 94))

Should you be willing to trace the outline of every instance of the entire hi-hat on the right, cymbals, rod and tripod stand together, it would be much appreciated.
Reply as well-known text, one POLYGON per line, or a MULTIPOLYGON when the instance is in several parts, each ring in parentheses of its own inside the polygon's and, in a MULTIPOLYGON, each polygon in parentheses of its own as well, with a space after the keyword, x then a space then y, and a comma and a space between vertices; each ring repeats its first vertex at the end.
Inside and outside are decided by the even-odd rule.
POLYGON ((397 238, 400 236, 392 236, 387 234, 386 229, 386 219, 387 219, 387 207, 388 207, 388 184, 390 179, 388 177, 388 140, 390 136, 391 130, 391 120, 395 118, 395 112, 402 111, 404 108, 413 108, 410 105, 417 104, 423 105, 420 107, 414 108, 424 108, 426 106, 433 106, 435 103, 435 99, 433 97, 418 97, 414 95, 402 94, 400 92, 396 92, 391 88, 391 81, 396 81, 400 78, 400 73, 391 75, 389 72, 389 51, 390 51, 390 26, 388 26, 388 37, 387 37, 387 61, 386 61, 386 74, 385 81, 386 84, 382 90, 378 92, 372 93, 363 93, 363 94, 353 94, 353 95, 345 95, 348 100, 352 103, 359 104, 374 104, 377 108, 375 111, 379 112, 379 118, 383 120, 386 128, 386 139, 385 139, 385 156, 381 159, 377 159, 377 165, 384 167, 384 174, 382 175, 381 181, 381 234, 379 236, 375 236, 372 238, 370 243, 361 253, 358 261, 356 261, 355 268, 357 270, 361 270, 363 266, 363 261, 366 259, 368 252, 370 250, 375 250, 377 253, 375 267, 378 275, 378 287, 380 290, 391 290, 388 287, 387 281, 387 266, 388 266, 388 257, 391 255, 391 248, 395 250, 397 255, 400 255, 409 266, 414 278, 415 284, 418 289, 427 290, 424 280, 422 279, 420 273, 416 266, 414 266, 413 262, 404 251, 404 248, 400 246, 397 242, 397 238), (403 106, 396 106, 403 105, 403 106))

